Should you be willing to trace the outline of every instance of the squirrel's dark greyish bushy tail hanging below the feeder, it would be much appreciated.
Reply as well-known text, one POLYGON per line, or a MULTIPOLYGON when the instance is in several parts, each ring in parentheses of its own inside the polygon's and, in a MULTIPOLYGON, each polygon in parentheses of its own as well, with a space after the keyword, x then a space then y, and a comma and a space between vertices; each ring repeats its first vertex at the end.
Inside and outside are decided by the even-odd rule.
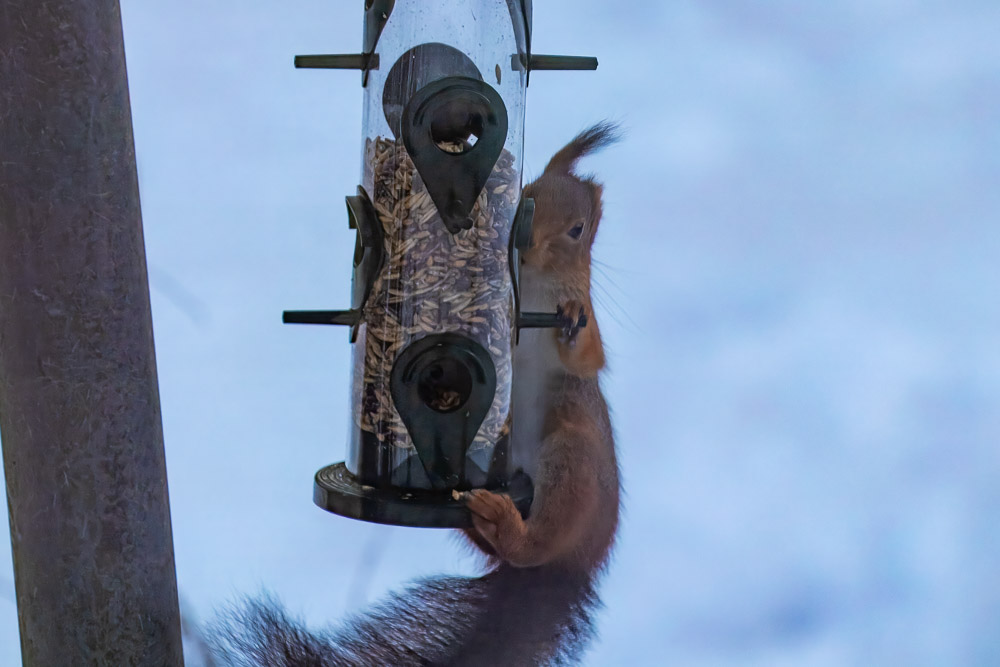
POLYGON ((547 568, 418 582, 339 629, 310 633, 264 597, 209 630, 238 667, 510 667, 575 664, 593 636, 593 582, 547 568))

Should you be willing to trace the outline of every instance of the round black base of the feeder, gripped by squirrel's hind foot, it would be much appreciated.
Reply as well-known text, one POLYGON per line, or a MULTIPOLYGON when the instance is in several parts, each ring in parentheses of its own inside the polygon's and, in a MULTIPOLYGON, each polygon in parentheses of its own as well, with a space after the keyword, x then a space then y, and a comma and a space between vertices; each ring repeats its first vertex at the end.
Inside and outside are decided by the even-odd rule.
MULTIPOLYGON (((527 475, 518 473, 507 486, 490 490, 509 495, 521 515, 527 515, 533 497, 527 475)), ((316 473, 313 502, 328 512, 372 523, 418 528, 472 527, 465 502, 455 500, 451 491, 378 489, 361 484, 343 463, 316 473)))

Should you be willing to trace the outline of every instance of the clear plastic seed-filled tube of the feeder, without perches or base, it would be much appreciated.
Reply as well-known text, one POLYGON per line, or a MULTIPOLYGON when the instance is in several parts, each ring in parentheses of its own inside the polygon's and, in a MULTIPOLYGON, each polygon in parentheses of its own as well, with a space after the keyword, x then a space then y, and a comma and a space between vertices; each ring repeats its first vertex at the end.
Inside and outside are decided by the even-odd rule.
MULTIPOLYGON (((524 71, 516 66, 523 44, 516 35, 505 0, 399 0, 377 43, 380 64, 368 73, 364 96, 362 186, 374 205, 385 259, 354 344, 347 461, 365 483, 415 489, 439 485, 415 447, 413 423, 408 427, 393 396, 400 355, 438 334, 473 341, 488 354, 496 376, 457 485, 485 486, 510 472, 514 313, 508 247, 521 194, 525 92, 524 71), (419 153, 411 155, 401 136, 404 116, 413 116, 409 102, 448 77, 473 89, 482 81, 498 94, 506 116, 502 149, 487 164, 485 184, 474 193, 471 210, 459 216, 467 229, 455 229, 447 212, 442 215, 435 203, 441 199, 441 174, 419 153)), ((431 123, 434 150, 444 155, 432 156, 436 160, 479 159, 487 151, 486 140, 477 135, 490 119, 479 116, 498 112, 498 105, 463 104, 458 99, 443 105, 440 113, 447 118, 431 123)), ((460 386, 444 383, 427 403, 449 414, 461 412, 467 398, 460 386)))

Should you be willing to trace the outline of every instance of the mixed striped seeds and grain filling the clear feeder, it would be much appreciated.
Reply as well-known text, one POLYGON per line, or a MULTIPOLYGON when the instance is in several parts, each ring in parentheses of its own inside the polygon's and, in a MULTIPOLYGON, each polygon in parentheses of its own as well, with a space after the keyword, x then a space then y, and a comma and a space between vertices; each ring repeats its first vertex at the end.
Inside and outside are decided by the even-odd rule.
MULTIPOLYGON (((461 144, 441 150, 460 153, 461 144)), ((443 224, 403 142, 377 138, 365 148, 364 186, 382 225, 385 264, 375 278, 355 347, 352 414, 379 442, 413 443, 393 403, 389 380, 399 350, 430 333, 454 332, 490 353, 497 392, 470 454, 510 430, 510 353, 513 292, 507 266, 510 221, 520 195, 513 156, 504 151, 469 216, 472 227, 452 234, 443 224)), ((445 389, 435 409, 457 407, 445 389)))

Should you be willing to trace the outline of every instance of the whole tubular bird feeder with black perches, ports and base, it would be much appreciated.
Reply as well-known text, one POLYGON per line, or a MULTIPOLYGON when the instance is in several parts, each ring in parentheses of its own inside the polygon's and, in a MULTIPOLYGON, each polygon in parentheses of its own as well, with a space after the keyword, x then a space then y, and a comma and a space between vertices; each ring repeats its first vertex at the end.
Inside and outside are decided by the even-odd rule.
POLYGON ((316 473, 316 504, 464 528, 454 492, 487 488, 526 514, 511 352, 520 329, 560 319, 520 311, 534 211, 521 197, 525 92, 532 70, 597 59, 533 54, 531 0, 366 0, 362 53, 295 66, 357 69, 364 88, 363 183, 347 197, 351 308, 283 318, 347 326, 354 346, 348 458, 316 473))

